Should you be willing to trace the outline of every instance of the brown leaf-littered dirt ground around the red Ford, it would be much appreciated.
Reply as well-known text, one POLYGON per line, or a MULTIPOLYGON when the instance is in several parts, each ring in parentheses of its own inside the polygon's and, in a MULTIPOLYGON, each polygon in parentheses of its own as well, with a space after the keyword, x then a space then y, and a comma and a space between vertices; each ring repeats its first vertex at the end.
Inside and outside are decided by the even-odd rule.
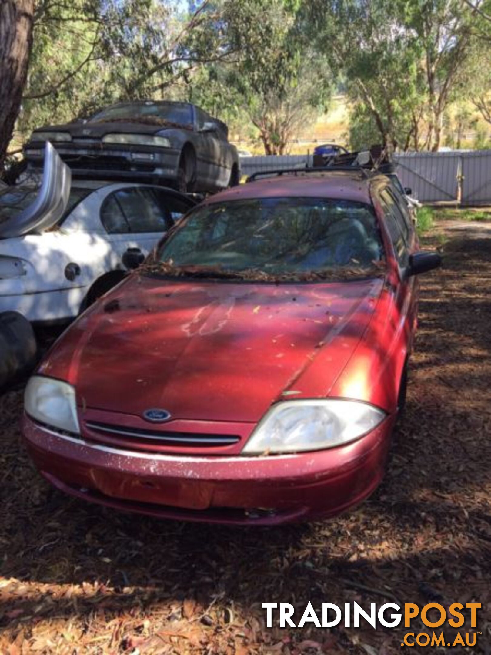
POLYGON ((475 601, 477 646, 410 652, 489 654, 490 227, 439 223, 423 240, 443 250, 445 267, 422 278, 407 409, 387 476, 337 519, 230 529, 71 500, 26 458, 22 390, 4 394, 0 652, 390 655, 401 652, 401 626, 266 629, 261 603, 301 612, 308 601, 475 601))

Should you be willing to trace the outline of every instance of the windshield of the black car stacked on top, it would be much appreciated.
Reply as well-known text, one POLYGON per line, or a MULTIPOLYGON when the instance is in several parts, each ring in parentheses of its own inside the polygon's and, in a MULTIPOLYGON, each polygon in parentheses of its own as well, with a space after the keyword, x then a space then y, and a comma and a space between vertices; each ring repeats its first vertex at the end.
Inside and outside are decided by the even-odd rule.
POLYGON ((191 105, 181 102, 125 103, 108 107, 89 122, 146 122, 149 124, 177 124, 192 127, 191 105))

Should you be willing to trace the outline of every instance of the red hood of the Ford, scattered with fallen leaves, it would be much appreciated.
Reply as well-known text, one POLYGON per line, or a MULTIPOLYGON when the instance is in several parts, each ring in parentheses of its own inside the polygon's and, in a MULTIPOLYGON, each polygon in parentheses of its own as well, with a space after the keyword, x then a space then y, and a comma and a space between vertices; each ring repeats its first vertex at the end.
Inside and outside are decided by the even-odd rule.
POLYGON ((276 400, 329 392, 382 285, 133 274, 65 333, 40 372, 74 384, 83 407, 256 422, 276 400))

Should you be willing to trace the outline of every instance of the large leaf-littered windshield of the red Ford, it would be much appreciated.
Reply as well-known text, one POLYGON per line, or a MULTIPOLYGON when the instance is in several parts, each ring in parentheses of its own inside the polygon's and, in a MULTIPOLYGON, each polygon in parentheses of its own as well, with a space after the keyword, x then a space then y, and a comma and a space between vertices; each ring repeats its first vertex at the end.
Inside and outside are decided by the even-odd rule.
POLYGON ((197 208, 149 268, 171 275, 315 280, 380 274, 373 209, 326 198, 253 198, 197 208))

